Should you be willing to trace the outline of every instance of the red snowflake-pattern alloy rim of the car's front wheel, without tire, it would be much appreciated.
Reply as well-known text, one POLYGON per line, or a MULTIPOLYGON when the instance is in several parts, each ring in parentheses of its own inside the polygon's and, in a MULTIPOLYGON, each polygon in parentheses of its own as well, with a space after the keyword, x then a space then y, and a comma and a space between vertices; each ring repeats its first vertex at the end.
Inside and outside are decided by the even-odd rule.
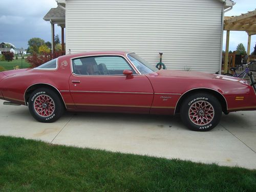
POLYGON ((193 103, 189 110, 189 119, 196 125, 207 125, 214 119, 214 107, 207 101, 197 101, 193 103))

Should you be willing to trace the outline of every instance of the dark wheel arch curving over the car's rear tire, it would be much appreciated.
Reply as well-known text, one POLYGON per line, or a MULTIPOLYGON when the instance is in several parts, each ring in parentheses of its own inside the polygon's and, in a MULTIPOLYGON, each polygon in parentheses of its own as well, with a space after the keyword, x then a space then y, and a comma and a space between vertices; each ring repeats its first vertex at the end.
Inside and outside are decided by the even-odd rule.
POLYGON ((62 97, 62 95, 60 94, 59 90, 58 90, 57 88, 55 88, 54 86, 52 86, 51 84, 48 84, 48 83, 35 83, 35 84, 32 84, 31 86, 29 86, 29 87, 26 89, 26 91, 25 91, 25 93, 24 93, 24 101, 25 101, 26 106, 28 106, 28 100, 29 100, 30 94, 31 94, 34 90, 36 90, 36 89, 38 89, 38 88, 48 88, 48 89, 50 89, 50 90, 53 90, 55 93, 58 94, 58 96, 60 97, 60 99, 61 99, 63 105, 64 105, 65 108, 67 109, 66 103, 65 103, 65 101, 64 101, 64 99, 63 99, 63 97, 62 97))

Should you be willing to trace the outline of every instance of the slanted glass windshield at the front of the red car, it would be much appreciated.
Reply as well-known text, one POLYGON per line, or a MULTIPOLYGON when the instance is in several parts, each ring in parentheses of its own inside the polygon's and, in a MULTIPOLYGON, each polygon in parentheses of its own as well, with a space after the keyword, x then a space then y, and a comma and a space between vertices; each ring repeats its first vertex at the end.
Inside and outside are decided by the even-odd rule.
POLYGON ((139 70, 141 74, 148 74, 157 71, 157 68, 152 66, 150 63, 135 53, 129 53, 127 57, 132 61, 133 65, 139 70))

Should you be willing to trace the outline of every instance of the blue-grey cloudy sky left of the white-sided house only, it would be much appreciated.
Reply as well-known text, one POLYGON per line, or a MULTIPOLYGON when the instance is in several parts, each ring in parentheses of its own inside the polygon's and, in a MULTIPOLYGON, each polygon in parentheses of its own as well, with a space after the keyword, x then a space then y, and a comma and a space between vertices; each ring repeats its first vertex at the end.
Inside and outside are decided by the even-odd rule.
MULTIPOLYGON (((55 0, 0 0, 0 43, 11 42, 16 48, 28 48, 28 40, 39 37, 51 42, 51 24, 44 17, 55 0)), ((55 25, 55 35, 61 28, 55 25)))

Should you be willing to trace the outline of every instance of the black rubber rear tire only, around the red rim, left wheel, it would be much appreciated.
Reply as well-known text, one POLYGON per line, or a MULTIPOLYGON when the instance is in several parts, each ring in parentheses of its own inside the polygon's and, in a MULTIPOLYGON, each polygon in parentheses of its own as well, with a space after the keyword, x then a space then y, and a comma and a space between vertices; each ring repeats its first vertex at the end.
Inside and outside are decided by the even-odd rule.
POLYGON ((52 90, 49 89, 37 89, 35 90, 29 97, 29 111, 31 113, 31 115, 38 121, 40 122, 54 122, 56 121, 63 112, 63 105, 60 101, 59 96, 52 90), (35 99, 40 96, 40 95, 47 95, 49 97, 52 98, 53 102, 54 102, 54 111, 50 116, 47 117, 42 117, 39 114, 37 114, 37 112, 35 111, 34 108, 34 102, 35 99))

